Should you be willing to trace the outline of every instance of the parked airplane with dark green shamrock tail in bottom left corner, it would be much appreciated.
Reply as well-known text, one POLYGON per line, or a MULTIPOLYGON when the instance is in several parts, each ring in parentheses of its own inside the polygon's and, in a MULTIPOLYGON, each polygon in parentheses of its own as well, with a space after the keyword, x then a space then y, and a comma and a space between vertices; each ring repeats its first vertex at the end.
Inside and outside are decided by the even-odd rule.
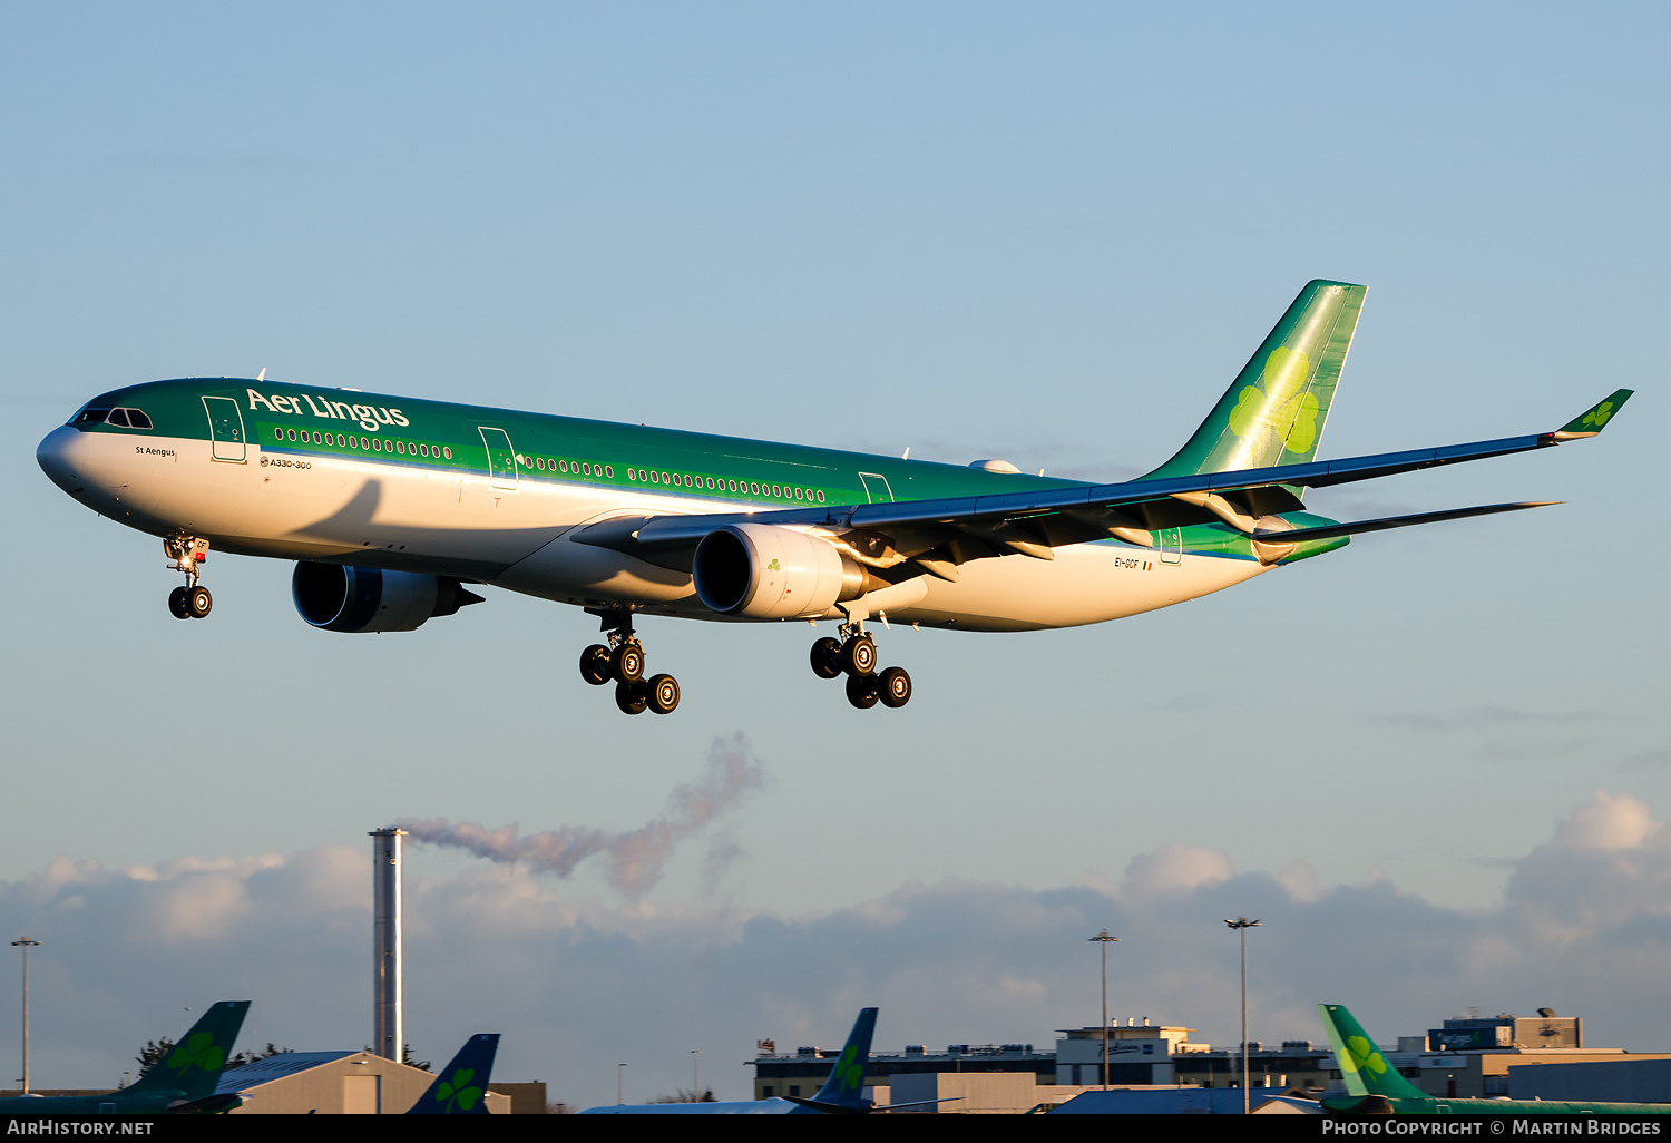
POLYGON ((199 1018, 167 1056, 120 1091, 92 1096, 10 1096, 0 1113, 10 1115, 159 1115, 224 1111, 216 1095, 232 1043, 244 1026, 249 1001, 219 1001, 199 1018))

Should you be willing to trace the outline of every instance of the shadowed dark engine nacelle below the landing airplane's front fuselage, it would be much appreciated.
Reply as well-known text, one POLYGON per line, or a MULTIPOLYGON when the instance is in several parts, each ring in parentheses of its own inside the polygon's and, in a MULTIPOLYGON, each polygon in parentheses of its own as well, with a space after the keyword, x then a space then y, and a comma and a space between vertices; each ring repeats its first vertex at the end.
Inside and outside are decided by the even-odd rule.
POLYGON ((326 632, 413 632, 481 597, 451 577, 297 563, 291 598, 304 620, 326 632))

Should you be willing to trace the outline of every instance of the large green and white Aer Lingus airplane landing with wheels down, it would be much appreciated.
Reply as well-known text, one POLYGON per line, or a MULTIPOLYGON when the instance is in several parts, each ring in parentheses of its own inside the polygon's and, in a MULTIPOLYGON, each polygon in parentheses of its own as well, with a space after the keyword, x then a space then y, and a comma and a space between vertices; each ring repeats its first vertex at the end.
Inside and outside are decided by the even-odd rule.
MULTIPOLYGON (((358 389, 185 378, 104 393, 35 451, 63 491, 162 538, 179 618, 209 615, 211 550, 296 560, 329 632, 409 632, 493 585, 597 615, 580 673, 625 714, 670 714, 637 615, 839 620, 812 670, 857 709, 904 707, 872 618, 1016 632, 1101 623, 1220 592, 1357 533, 1537 508, 1340 523, 1302 495, 1596 436, 1619 389, 1552 431, 1318 461, 1365 297, 1308 282, 1171 460, 1113 485, 772 444, 358 389)), ((909 450, 907 456, 909 456, 909 450)))

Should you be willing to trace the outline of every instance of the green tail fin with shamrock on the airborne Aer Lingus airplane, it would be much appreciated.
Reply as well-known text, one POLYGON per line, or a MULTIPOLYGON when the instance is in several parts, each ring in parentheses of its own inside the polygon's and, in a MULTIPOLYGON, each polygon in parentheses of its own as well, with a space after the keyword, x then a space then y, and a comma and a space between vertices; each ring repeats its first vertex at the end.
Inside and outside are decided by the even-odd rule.
POLYGON ((1143 480, 1303 465, 1317 456, 1364 286, 1307 282, 1178 455, 1143 480))

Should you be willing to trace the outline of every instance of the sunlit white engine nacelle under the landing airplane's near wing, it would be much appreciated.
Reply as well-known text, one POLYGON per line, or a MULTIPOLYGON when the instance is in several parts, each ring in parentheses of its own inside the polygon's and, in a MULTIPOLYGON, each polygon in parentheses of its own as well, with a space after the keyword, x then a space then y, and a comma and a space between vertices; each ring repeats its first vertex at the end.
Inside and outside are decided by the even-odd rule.
POLYGON ((829 540, 775 525, 730 525, 702 536, 690 578, 703 607, 720 615, 799 618, 859 598, 872 577, 829 540))

